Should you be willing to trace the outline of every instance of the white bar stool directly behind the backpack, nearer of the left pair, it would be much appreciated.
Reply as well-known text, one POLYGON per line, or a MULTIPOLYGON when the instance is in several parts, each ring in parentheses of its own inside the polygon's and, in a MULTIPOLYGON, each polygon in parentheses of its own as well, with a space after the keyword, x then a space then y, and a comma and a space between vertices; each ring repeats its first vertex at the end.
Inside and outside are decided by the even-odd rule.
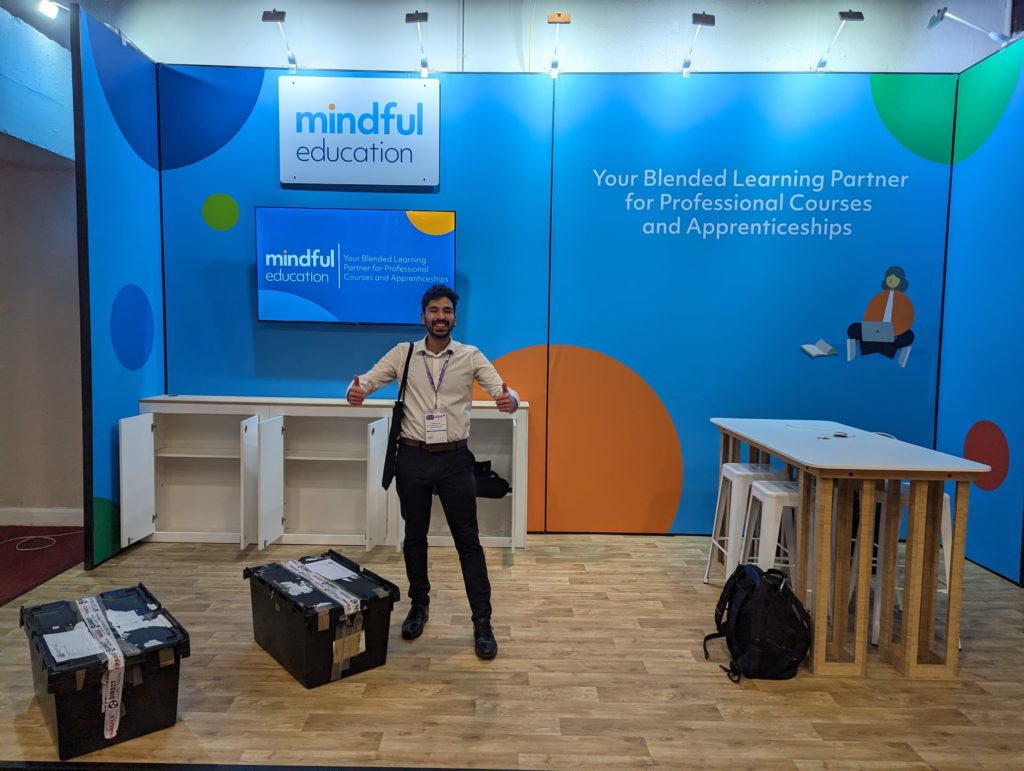
POLYGON ((751 485, 751 501, 746 507, 743 528, 743 551, 740 559, 751 562, 754 532, 758 531, 757 564, 762 570, 775 566, 779 549, 785 556, 784 565, 797 563, 796 513, 800 506, 800 487, 788 480, 762 479, 751 485))

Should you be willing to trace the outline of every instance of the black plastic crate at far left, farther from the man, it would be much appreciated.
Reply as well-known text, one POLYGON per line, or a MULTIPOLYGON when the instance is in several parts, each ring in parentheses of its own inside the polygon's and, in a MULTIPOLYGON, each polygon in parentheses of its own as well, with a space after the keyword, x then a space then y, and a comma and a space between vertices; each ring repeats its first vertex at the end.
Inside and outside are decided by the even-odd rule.
POLYGON ((108 655, 88 652, 92 639, 75 600, 23 607, 32 679, 60 760, 174 725, 178 675, 188 633, 141 584, 95 598, 124 656, 121 693, 104 692, 108 655), (81 654, 81 655, 80 655, 81 654), (108 709, 109 708, 109 709, 108 709), (118 715, 113 736, 105 722, 118 715))

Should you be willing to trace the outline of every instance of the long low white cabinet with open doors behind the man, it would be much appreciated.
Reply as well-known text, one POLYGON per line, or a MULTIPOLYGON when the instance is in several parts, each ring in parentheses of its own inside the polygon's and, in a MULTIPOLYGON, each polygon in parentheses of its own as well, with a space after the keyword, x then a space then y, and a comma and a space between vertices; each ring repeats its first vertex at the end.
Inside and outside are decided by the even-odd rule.
MULTIPOLYGON (((121 543, 400 544, 380 480, 391 401, 155 396, 121 428, 121 543)), ((479 499, 481 542, 525 546, 526 420, 474 402, 470 448, 512 483, 479 499)), ((434 543, 451 543, 437 508, 434 543), (446 538, 445 538, 446 537, 446 538)))

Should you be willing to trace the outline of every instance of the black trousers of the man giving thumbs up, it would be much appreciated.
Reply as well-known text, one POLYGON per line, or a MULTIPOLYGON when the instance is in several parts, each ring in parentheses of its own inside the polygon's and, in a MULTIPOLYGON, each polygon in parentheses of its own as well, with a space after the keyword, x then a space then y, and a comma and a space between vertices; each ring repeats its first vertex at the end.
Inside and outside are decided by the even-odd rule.
POLYGON ((473 454, 469 447, 447 453, 430 453, 422 447, 400 444, 395 466, 395 484, 401 502, 401 518, 406 520, 406 574, 409 576, 409 597, 414 603, 430 601, 430 580, 427 576, 427 530, 430 527, 430 507, 433 490, 444 509, 449 529, 455 539, 462 564, 462 579, 474 622, 490 620, 490 581, 487 563, 480 546, 480 530, 476 521, 476 479, 473 476, 473 454))

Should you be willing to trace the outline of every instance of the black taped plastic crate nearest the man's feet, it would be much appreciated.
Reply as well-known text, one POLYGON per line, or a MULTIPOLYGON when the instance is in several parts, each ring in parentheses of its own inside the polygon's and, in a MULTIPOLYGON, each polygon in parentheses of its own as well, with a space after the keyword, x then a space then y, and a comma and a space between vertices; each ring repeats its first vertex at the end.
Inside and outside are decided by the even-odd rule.
POLYGON ((294 560, 292 569, 288 565, 272 562, 243 571, 252 597, 253 637, 267 653, 306 688, 387 660, 391 610, 399 597, 394 584, 333 550, 294 560))

